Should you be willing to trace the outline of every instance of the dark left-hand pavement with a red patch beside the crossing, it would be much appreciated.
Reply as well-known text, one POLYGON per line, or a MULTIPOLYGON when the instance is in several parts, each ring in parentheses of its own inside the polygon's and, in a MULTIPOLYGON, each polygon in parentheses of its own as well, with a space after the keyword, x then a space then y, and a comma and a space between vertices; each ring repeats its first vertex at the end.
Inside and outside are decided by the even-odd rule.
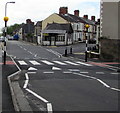
POLYGON ((6 58, 6 64, 7 65, 0 64, 2 66, 2 112, 14 113, 15 111, 7 77, 16 72, 17 68, 13 65, 14 63, 10 57, 6 58))

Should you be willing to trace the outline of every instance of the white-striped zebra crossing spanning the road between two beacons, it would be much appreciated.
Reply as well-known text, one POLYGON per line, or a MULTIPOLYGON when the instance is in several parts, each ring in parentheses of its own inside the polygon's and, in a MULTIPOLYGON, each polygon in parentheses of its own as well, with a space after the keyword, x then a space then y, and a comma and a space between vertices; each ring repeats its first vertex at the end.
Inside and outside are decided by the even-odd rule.
POLYGON ((67 65, 72 65, 72 66, 93 66, 88 63, 80 62, 80 61, 59 61, 59 60, 54 60, 54 61, 49 61, 49 60, 18 60, 17 61, 19 65, 24 66, 24 65, 33 65, 33 66, 40 66, 40 65, 49 65, 49 66, 54 66, 54 65, 61 65, 61 66, 67 66, 67 65))

